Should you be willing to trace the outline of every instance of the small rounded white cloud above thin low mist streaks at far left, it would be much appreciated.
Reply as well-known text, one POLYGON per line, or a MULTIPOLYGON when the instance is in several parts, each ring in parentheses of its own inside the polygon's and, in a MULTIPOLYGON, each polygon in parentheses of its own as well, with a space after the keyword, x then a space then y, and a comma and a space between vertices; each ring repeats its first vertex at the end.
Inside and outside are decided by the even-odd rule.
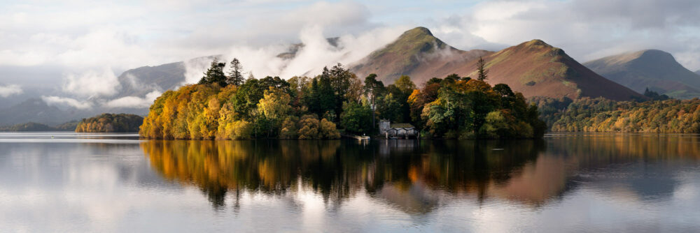
POLYGON ((119 87, 119 80, 111 68, 104 68, 102 71, 88 70, 65 75, 63 91, 78 96, 111 96, 117 93, 119 87))

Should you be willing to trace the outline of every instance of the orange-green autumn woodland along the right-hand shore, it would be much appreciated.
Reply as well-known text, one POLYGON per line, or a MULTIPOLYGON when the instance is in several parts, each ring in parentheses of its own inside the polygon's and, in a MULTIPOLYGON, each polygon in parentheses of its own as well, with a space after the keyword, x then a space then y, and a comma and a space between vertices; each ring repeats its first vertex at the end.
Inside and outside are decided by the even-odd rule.
POLYGON ((554 132, 700 133, 700 99, 537 99, 554 132))

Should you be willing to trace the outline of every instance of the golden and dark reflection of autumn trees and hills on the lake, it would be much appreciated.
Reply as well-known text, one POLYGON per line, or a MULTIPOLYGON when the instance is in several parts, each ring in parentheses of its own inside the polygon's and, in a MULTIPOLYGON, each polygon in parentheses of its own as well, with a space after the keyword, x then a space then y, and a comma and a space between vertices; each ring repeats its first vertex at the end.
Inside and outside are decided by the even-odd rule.
POLYGON ((689 142, 694 141, 192 140, 146 141, 141 148, 165 179, 200 188, 215 208, 225 205, 227 193, 239 206, 240 193, 295 195, 301 187, 323 197, 331 208, 365 192, 421 214, 444 197, 539 206, 575 188, 578 170, 664 156, 697 158, 700 147, 685 145, 689 142))

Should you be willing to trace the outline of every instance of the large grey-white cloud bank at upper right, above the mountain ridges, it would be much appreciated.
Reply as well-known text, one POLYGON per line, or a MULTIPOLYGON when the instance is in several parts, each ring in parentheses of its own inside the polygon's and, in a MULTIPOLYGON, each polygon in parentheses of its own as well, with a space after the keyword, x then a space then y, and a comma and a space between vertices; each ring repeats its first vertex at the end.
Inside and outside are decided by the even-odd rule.
POLYGON ((580 61, 656 48, 700 68, 700 2, 484 1, 433 22, 433 33, 459 48, 500 50, 542 39, 580 61))

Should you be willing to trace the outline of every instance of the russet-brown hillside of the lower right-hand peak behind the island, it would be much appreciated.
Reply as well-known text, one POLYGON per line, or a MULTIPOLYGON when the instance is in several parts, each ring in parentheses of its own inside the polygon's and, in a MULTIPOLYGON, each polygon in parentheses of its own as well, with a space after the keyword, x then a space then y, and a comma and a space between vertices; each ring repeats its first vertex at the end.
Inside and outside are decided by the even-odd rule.
MULTIPOLYGON (((508 84, 525 96, 552 98, 605 97, 612 100, 644 98, 611 82, 569 57, 558 47, 531 40, 484 57, 490 83, 508 84)), ((476 76, 476 61, 454 73, 476 76)))

